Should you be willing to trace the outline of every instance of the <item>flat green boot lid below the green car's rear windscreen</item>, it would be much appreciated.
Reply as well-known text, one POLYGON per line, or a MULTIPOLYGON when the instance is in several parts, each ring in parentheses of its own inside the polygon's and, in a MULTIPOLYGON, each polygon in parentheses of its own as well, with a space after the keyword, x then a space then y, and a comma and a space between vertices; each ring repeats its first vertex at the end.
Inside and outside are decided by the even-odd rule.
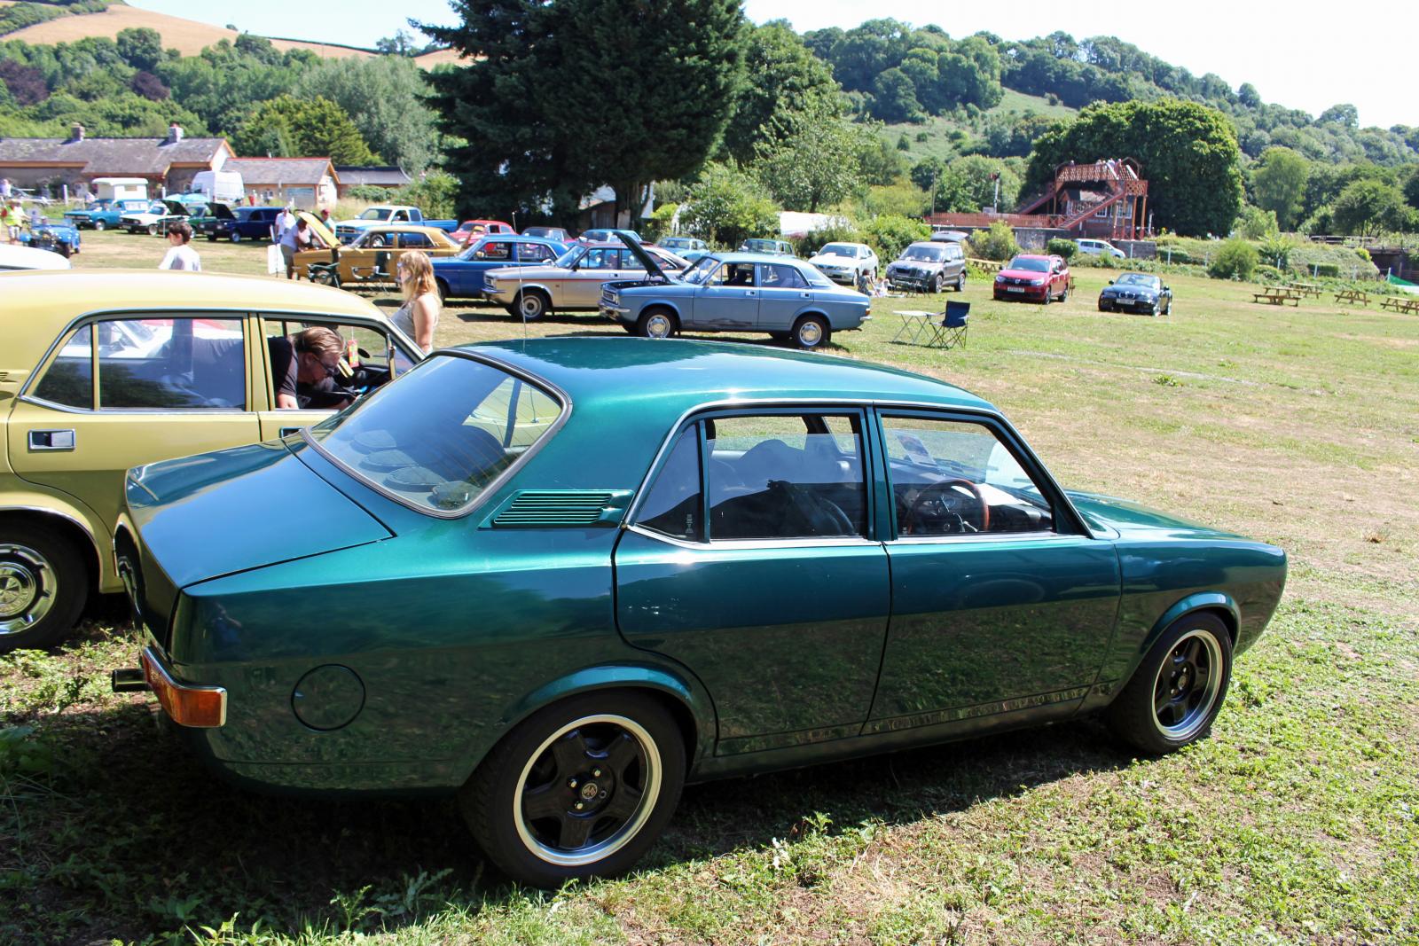
POLYGON ((284 441, 135 467, 123 499, 149 586, 156 567, 173 590, 393 535, 284 441))

